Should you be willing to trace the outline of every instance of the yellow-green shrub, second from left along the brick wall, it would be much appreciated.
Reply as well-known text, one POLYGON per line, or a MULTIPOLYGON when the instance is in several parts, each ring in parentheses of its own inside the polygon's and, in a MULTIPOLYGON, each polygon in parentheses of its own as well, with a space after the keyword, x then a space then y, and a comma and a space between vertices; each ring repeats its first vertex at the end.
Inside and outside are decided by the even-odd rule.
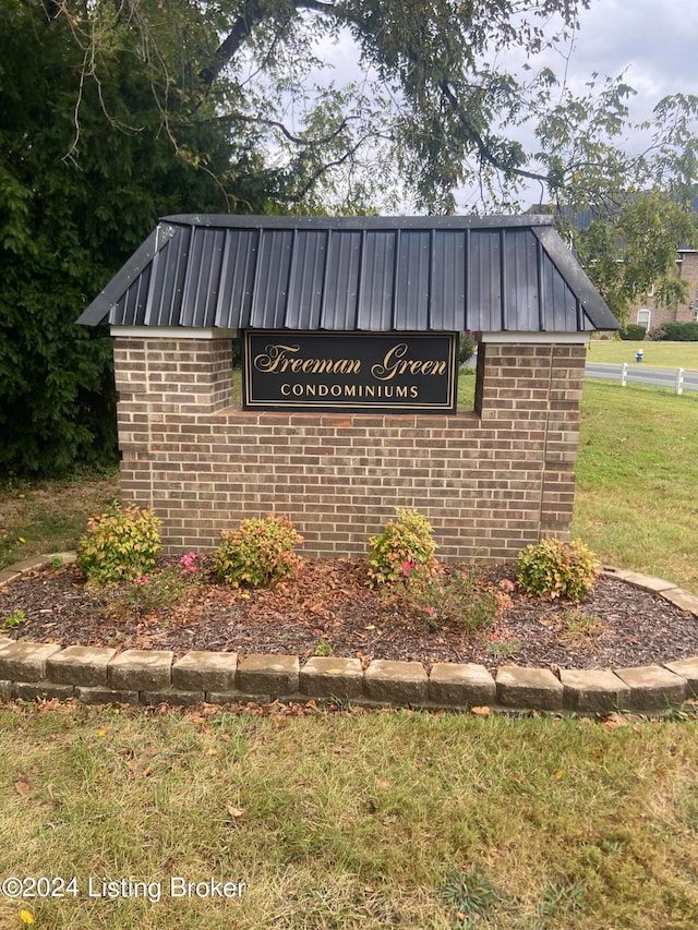
POLYGON ((243 520, 237 530, 224 530, 215 554, 216 573, 233 588, 260 588, 291 578, 301 563, 294 546, 303 538, 285 516, 243 520))

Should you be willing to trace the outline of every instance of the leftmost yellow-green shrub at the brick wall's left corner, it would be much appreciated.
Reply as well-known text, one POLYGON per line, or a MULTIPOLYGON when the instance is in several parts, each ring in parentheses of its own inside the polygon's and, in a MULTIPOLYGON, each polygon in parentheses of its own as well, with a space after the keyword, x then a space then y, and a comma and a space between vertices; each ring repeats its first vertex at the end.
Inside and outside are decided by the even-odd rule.
POLYGON ((153 510, 115 502, 87 521, 76 565, 95 584, 118 584, 148 575, 160 551, 160 521, 153 510))

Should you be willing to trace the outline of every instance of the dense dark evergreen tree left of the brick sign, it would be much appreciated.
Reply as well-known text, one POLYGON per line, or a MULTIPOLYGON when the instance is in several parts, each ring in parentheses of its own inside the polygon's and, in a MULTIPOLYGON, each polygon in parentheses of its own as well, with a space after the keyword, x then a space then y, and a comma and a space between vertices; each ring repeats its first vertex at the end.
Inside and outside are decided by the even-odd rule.
POLYGON ((158 216, 266 205, 254 153, 236 152, 204 107, 180 120, 178 156, 137 55, 115 49, 98 82, 81 83, 83 68, 65 17, 0 0, 5 475, 116 458, 110 340, 75 319, 158 216))

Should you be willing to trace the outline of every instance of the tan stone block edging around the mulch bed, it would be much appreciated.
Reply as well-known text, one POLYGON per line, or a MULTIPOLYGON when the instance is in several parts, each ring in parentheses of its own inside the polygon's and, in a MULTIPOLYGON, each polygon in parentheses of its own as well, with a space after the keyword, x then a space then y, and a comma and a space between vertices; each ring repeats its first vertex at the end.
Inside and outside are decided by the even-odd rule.
MULTIPOLYGON (((34 556, 0 570, 0 587, 75 553, 34 556)), ((604 568, 603 575, 659 594, 698 618, 698 597, 669 581, 636 571, 604 568)), ((348 701, 365 706, 419 706, 492 711, 661 714, 698 698, 698 656, 662 665, 615 671, 503 665, 493 677, 483 665, 376 659, 363 671, 358 659, 186 653, 33 643, 0 636, 0 698, 76 698, 88 704, 193 705, 202 702, 270 703, 348 701)))

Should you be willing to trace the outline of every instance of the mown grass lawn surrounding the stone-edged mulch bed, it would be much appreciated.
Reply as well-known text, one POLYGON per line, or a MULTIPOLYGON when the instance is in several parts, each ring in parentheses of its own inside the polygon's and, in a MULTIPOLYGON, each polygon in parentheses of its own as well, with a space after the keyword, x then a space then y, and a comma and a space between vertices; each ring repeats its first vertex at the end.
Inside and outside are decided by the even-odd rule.
MULTIPOLYGON (((698 398, 589 382, 582 407, 575 532, 698 590, 698 398)), ((2 492, 5 556, 73 547, 115 490, 2 492)), ((0 703, 0 877, 75 877, 0 896, 0 926, 688 930, 697 785, 678 714, 0 703)))

